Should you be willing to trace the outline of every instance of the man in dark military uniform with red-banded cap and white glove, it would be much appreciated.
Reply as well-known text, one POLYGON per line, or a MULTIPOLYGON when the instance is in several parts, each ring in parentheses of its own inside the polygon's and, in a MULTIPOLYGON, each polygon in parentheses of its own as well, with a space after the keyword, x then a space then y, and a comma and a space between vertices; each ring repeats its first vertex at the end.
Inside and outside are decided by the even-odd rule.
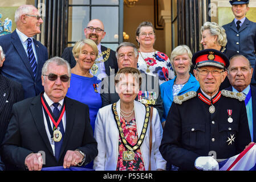
POLYGON ((192 57, 197 92, 174 97, 160 145, 163 158, 181 170, 218 170, 217 159, 237 155, 251 142, 245 96, 220 91, 229 60, 205 49, 192 57))

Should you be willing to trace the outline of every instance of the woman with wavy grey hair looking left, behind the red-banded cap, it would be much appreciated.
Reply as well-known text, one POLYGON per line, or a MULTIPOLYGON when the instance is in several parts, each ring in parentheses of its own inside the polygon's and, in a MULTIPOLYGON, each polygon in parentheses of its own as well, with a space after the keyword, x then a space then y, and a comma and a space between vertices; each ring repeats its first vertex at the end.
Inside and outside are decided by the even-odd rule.
MULTIPOLYGON (((227 44, 226 32, 225 29, 219 26, 217 23, 205 22, 204 25, 201 27, 201 34, 201 44, 204 47, 204 49, 216 49, 218 51, 225 53, 225 55, 229 57, 229 59, 232 56, 238 54, 236 51, 227 50, 225 48, 227 44)), ((220 86, 220 90, 228 88, 229 86, 230 83, 226 77, 224 82, 222 82, 220 86)))

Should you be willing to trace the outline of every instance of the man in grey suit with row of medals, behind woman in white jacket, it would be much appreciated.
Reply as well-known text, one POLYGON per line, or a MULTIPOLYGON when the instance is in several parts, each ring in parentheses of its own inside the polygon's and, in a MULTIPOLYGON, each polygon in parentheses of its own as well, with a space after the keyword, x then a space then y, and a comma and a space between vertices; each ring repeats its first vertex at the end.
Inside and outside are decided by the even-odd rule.
MULTIPOLYGON (((116 49, 116 57, 119 69, 125 67, 137 68, 139 53, 133 43, 121 43, 116 49)), ((164 108, 162 106, 159 78, 145 73, 141 73, 141 77, 142 84, 140 92, 135 100, 156 107, 161 119, 164 108)), ((113 104, 119 100, 119 95, 115 90, 115 75, 103 79, 101 82, 100 96, 102 99, 102 106, 113 104)))

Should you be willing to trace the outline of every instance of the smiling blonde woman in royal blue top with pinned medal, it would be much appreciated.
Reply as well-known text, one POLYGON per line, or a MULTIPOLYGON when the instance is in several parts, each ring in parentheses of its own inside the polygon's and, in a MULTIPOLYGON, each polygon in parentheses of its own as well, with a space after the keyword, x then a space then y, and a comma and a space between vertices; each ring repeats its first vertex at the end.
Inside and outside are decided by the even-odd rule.
POLYGON ((91 39, 78 41, 72 49, 76 65, 71 69, 70 88, 67 97, 88 105, 94 131, 97 111, 101 107, 100 80, 91 75, 90 69, 99 54, 96 43, 91 39))

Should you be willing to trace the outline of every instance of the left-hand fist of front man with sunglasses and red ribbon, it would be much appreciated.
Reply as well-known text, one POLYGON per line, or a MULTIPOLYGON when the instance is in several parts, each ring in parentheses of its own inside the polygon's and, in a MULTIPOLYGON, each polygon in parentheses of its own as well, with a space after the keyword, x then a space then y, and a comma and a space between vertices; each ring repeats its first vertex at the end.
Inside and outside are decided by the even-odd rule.
POLYGON ((43 166, 43 158, 40 153, 32 153, 25 159, 25 165, 29 171, 41 171, 43 166))

